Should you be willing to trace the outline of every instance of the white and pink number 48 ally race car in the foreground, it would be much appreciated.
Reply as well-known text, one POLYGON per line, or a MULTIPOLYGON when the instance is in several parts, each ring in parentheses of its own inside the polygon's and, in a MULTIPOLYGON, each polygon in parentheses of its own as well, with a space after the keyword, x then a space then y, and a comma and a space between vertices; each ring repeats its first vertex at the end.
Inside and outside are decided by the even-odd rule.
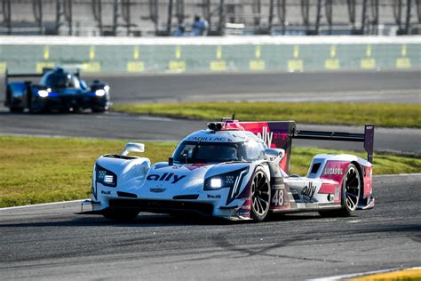
POLYGON ((364 133, 297 131, 293 121, 209 123, 179 143, 168 162, 151 165, 144 145, 128 143, 104 155, 92 174, 89 213, 132 220, 139 212, 201 213, 229 220, 263 221, 268 213, 316 211, 352 215, 374 205, 374 125, 364 133), (368 160, 317 155, 306 177, 289 175, 292 139, 361 141, 368 160))

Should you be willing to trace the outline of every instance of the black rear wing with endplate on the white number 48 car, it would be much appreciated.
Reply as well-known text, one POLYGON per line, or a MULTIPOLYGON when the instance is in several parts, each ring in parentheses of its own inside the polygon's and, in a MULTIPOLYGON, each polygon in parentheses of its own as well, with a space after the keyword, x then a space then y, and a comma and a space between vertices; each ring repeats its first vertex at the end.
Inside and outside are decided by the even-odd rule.
POLYGON ((292 138, 319 141, 363 142, 364 149, 367 151, 367 161, 369 161, 369 163, 373 163, 374 124, 365 124, 364 133, 295 130, 292 138))

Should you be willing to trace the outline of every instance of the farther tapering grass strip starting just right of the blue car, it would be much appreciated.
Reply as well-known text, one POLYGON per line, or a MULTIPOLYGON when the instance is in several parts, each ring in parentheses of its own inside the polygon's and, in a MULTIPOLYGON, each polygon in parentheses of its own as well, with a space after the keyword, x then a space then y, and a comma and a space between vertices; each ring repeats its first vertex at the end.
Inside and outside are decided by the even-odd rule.
POLYGON ((295 120, 303 124, 374 123, 382 127, 421 128, 421 103, 345 102, 182 102, 115 104, 113 110, 136 114, 219 120, 235 112, 242 121, 295 120))

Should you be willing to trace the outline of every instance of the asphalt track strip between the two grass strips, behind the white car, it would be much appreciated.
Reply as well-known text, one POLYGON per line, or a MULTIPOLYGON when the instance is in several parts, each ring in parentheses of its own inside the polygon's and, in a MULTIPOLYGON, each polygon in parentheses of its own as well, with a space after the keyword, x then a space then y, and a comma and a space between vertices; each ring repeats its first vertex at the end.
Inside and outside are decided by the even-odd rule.
MULTIPOLYGON (((206 128, 206 121, 149 116, 105 114, 11 114, 0 111, 0 135, 69 136, 128 141, 180 141, 191 132, 206 128)), ((362 126, 298 124, 301 130, 363 132, 362 126)), ((293 141, 298 147, 363 150, 362 143, 339 141, 293 141)), ((421 155, 421 130, 377 128, 376 151, 421 155)), ((110 152, 110 151, 109 151, 110 152)))

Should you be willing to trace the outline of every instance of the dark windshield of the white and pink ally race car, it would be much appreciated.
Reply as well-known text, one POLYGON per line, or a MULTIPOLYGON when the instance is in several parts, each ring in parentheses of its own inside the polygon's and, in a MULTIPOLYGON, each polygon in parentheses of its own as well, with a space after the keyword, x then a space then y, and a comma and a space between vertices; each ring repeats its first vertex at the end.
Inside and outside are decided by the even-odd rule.
POLYGON ((257 141, 237 143, 183 141, 174 152, 179 163, 223 163, 254 161, 264 157, 265 147, 257 141))

